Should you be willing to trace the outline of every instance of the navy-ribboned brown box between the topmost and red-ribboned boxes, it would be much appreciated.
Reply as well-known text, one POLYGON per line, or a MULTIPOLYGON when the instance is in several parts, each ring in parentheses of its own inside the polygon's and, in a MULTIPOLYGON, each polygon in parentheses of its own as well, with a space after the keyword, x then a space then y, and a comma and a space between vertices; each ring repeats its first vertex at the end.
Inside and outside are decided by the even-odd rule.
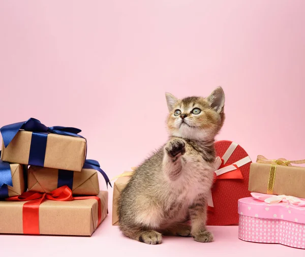
POLYGON ((81 172, 30 166, 27 176, 28 190, 50 192, 67 185, 73 195, 96 196, 100 192, 98 172, 104 176, 108 185, 109 179, 96 160, 86 160, 81 172))

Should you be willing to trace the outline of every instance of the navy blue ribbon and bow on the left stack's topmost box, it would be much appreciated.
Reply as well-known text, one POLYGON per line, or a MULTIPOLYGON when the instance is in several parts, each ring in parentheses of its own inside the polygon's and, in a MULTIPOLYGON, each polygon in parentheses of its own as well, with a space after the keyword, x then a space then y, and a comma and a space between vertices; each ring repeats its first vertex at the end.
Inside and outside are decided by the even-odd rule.
POLYGON ((18 122, 0 128, 4 146, 7 147, 19 130, 32 131, 31 147, 29 150, 28 165, 44 166, 48 134, 57 134, 70 137, 84 138, 77 135, 81 132, 75 127, 52 126, 47 127, 38 119, 29 118, 27 121, 18 122))

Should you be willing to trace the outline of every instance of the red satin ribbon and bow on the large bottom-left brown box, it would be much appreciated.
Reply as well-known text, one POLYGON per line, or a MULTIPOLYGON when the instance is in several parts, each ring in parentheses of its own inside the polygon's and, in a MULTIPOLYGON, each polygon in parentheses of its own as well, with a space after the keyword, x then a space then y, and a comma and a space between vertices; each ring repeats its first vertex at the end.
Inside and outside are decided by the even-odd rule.
POLYGON ((51 191, 50 193, 41 193, 34 191, 24 192, 20 196, 6 198, 6 201, 28 201, 22 207, 23 234, 40 235, 39 232, 39 206, 44 200, 52 201, 73 201, 84 199, 96 199, 98 201, 98 226, 101 223, 101 199, 95 196, 89 197, 73 197, 72 190, 64 185, 51 191))

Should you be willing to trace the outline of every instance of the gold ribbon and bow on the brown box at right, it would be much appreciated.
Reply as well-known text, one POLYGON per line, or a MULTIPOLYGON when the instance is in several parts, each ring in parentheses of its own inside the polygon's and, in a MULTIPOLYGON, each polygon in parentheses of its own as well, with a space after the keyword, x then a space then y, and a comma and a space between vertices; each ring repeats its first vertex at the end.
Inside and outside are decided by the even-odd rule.
POLYGON ((256 159, 257 163, 267 163, 271 164, 269 171, 269 180, 267 186, 267 194, 273 194, 273 186, 275 185, 276 172, 278 165, 291 166, 291 164, 305 164, 305 159, 303 160, 287 160, 284 158, 279 159, 267 159, 263 155, 258 155, 256 159))

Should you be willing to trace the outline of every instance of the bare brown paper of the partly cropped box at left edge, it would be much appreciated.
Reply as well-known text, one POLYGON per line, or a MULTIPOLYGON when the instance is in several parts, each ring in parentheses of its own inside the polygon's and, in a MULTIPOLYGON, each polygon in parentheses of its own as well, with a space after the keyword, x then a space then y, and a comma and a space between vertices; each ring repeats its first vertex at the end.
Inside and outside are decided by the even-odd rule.
POLYGON ((23 166, 20 164, 10 164, 12 172, 13 186, 8 185, 9 197, 20 196, 24 188, 23 166))

